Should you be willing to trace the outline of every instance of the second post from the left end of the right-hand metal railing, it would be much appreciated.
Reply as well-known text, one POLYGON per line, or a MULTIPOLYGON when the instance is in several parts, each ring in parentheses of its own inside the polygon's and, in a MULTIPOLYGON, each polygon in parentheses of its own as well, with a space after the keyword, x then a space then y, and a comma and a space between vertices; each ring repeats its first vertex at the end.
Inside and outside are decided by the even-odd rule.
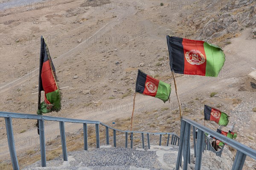
POLYGON ((190 150, 190 129, 191 125, 186 122, 186 127, 185 127, 185 146, 184 146, 184 162, 183 162, 183 170, 188 169, 188 162, 190 162, 189 158, 189 150, 190 150))

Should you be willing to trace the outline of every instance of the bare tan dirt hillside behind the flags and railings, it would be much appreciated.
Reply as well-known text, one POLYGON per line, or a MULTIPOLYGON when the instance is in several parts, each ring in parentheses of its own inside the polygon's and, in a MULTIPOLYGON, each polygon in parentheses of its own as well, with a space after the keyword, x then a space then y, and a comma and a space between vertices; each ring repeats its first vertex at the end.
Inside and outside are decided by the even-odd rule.
MULTIPOLYGON (((32 37, 32 41, 25 42, 7 39, 7 42, 3 41, 0 45, 1 71, 8 71, 7 74, 1 72, 0 77, 1 111, 32 114, 36 112, 37 95, 33 94, 37 92, 36 72, 26 77, 18 73, 23 75, 22 71, 35 71, 38 68, 40 44, 35 41, 35 37, 44 35, 48 39, 51 37, 49 50, 58 71, 60 86, 69 87, 62 90, 62 111, 48 115, 94 119, 105 123, 125 122, 124 119, 131 116, 132 95, 138 68, 173 85, 166 49, 166 34, 204 39, 209 33, 205 32, 207 28, 201 30, 204 34, 195 35, 199 34, 204 25, 208 24, 211 28, 210 24, 216 24, 220 27, 214 31, 210 30, 211 34, 223 32, 217 34, 221 38, 213 38, 212 41, 220 45, 229 44, 224 48, 226 62, 223 72, 218 78, 177 78, 184 114, 203 123, 201 106, 210 104, 219 107, 230 114, 230 123, 237 122, 236 130, 240 135, 237 140, 255 148, 256 116, 251 111, 256 107, 255 93, 239 91, 244 84, 244 77, 251 71, 251 67, 255 68, 256 65, 255 39, 251 38, 252 26, 255 26, 255 23, 244 25, 247 19, 253 21, 255 17, 255 2, 237 0, 234 4, 227 4, 226 8, 225 3, 231 1, 224 1, 220 8, 218 1, 214 1, 216 6, 207 7, 209 4, 205 4, 200 14, 197 9, 192 8, 173 9, 171 3, 160 6, 161 1, 143 2, 143 8, 133 8, 133 4, 129 4, 129 8, 123 10, 86 8, 79 0, 65 0, 59 2, 58 10, 40 8, 1 12, 1 36, 15 34, 17 37, 32 37), (239 27, 230 30, 232 24, 239 27), (236 34, 231 34, 232 31, 236 34), (114 36, 118 37, 116 42, 114 36), (129 41, 124 43, 125 40, 119 39, 122 36, 127 36, 129 41), (112 41, 107 43, 109 37, 112 41), (237 38, 229 40, 230 37, 237 38), (116 65, 117 61, 120 64, 116 65), (143 67, 139 66, 141 62, 144 62, 143 67), (13 72, 15 74, 10 76, 13 72), (209 94, 212 92, 218 94, 210 98, 209 94), (116 103, 119 106, 127 103, 129 109, 114 109, 116 103), (104 108, 107 104, 111 104, 111 110, 104 108), (95 106, 99 108, 95 110, 95 106), (117 117, 121 119, 116 120, 117 117)), ((171 104, 163 104, 160 100, 137 95, 136 115, 139 119, 135 122, 137 124, 134 124, 134 129, 179 133, 175 97, 172 91, 171 104)), ((0 120, 0 135, 3 141, 6 139, 5 123, 3 119, 0 120)), ((127 125, 119 127, 128 129, 128 122, 127 125)), ((13 123, 15 137, 18 139, 37 137, 35 121, 14 120, 13 123)), ((59 134, 58 124, 46 123, 47 137, 55 138, 59 134)), ((81 128, 69 124, 66 126, 67 132, 71 133, 81 128)), ((215 124, 207 123, 207 126, 216 128, 215 124)), ((32 145, 27 142, 24 146, 18 144, 16 148, 18 154, 26 154, 25 149, 34 150, 38 146, 33 141, 32 145)), ((3 142, 1 160, 8 158, 8 147, 6 142, 3 142)))

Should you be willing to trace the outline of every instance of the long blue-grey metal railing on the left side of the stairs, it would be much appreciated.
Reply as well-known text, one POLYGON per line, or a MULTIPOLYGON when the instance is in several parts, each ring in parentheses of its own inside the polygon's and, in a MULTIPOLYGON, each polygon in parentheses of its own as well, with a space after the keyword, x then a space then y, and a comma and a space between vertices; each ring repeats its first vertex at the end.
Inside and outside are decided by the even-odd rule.
POLYGON ((159 145, 162 145, 162 135, 168 135, 167 138, 167 146, 169 146, 170 135, 172 135, 172 139, 170 144, 179 146, 180 138, 175 133, 148 133, 148 132, 138 132, 138 131, 126 131, 126 130, 118 130, 108 125, 103 124, 99 121, 89 121, 89 120, 80 120, 80 119, 68 119, 68 118, 61 118, 61 117, 53 117, 53 116, 42 116, 42 115, 33 115, 33 114, 23 114, 23 113, 10 113, 10 112, 0 112, 0 117, 5 118, 6 122, 6 133, 9 145, 10 156, 12 160, 12 167, 14 170, 19 170, 19 164, 17 160, 17 154, 15 150, 15 140, 13 135, 13 128, 12 128, 12 118, 15 119, 37 119, 39 123, 39 132, 40 132, 40 149, 41 149, 41 166, 46 167, 46 150, 45 150, 45 136, 44 136, 44 121, 57 121, 60 125, 60 134, 61 134, 61 145, 62 145, 62 153, 63 153, 63 160, 67 161, 67 144, 66 144, 66 136, 65 136, 65 127, 64 122, 71 122, 71 123, 82 123, 83 124, 83 132, 84 132, 84 150, 88 150, 88 134, 87 134, 87 124, 95 124, 95 131, 96 131, 96 148, 100 147, 100 136, 99 136, 99 125, 105 127, 105 139, 106 144, 110 144, 109 142, 109 130, 113 130, 113 146, 116 147, 116 132, 125 133, 125 147, 128 147, 128 133, 130 133, 130 143, 131 148, 133 148, 133 136, 134 133, 141 134, 141 142, 142 148, 145 148, 144 143, 144 134, 147 135, 147 147, 150 149, 150 138, 149 135, 160 135, 159 138, 159 145))

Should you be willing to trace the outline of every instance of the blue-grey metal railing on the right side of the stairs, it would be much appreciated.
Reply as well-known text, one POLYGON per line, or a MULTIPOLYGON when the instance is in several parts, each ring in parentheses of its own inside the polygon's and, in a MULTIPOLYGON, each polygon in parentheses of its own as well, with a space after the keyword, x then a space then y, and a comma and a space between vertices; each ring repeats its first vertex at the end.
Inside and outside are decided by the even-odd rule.
POLYGON ((180 125, 180 146, 177 156, 176 170, 181 167, 182 156, 183 156, 183 170, 188 168, 188 163, 190 163, 190 130, 191 126, 193 128, 193 143, 194 143, 194 156, 195 156, 195 170, 201 169, 202 153, 205 147, 205 133, 221 140, 225 144, 236 149, 236 157, 233 162, 232 170, 241 170, 244 166, 244 161, 246 156, 250 156, 256 159, 256 150, 245 146, 233 139, 227 138, 220 133, 217 133, 207 127, 204 127, 197 122, 189 119, 182 119, 180 125), (195 127, 198 129, 197 139, 195 139, 195 127))

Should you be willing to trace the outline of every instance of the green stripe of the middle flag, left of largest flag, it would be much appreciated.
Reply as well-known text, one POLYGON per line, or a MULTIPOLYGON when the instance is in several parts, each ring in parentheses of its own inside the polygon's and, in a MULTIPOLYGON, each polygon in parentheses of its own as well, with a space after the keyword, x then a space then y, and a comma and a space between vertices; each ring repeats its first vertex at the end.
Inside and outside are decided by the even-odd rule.
POLYGON ((166 102, 170 97, 171 90, 172 90, 171 85, 165 82, 159 81, 157 94, 155 97, 163 100, 163 102, 166 102))

